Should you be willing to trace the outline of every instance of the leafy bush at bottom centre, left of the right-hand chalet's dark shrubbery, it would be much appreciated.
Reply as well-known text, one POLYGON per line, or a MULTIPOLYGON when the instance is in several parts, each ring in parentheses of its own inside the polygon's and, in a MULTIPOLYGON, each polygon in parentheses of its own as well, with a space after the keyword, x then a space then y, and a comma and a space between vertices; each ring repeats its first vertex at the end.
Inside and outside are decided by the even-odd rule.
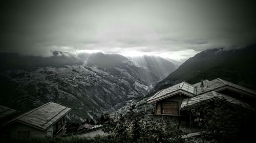
POLYGON ((118 119, 105 118, 103 131, 116 142, 180 142, 181 131, 173 121, 154 121, 131 106, 126 115, 118 119))

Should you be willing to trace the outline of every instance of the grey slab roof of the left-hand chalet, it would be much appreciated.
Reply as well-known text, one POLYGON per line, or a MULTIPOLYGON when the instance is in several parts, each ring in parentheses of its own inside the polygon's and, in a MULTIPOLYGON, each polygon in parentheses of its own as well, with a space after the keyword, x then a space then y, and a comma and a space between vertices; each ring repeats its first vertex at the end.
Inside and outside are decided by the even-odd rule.
POLYGON ((17 118, 4 124, 9 125, 20 122, 40 130, 47 130, 51 125, 56 123, 60 118, 65 116, 71 109, 54 102, 46 103, 40 107, 32 109, 17 118))

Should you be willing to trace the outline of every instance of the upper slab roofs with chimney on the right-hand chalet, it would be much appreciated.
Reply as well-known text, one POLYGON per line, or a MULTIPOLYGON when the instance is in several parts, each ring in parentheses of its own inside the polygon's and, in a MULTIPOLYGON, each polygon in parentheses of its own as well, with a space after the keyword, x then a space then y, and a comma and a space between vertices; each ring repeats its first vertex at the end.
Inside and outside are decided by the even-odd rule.
POLYGON ((173 85, 172 87, 169 87, 169 88, 159 91, 158 93, 153 95, 151 98, 149 98, 147 100, 147 102, 148 103, 155 102, 157 99, 162 99, 162 97, 165 98, 165 96, 168 94, 171 96, 172 93, 175 93, 178 90, 185 91, 192 96, 197 96, 197 95, 201 95, 203 93, 207 93, 209 91, 217 90, 217 89, 225 87, 225 86, 232 87, 234 89, 238 89, 240 91, 246 92, 256 98, 256 91, 247 89, 245 87, 231 83, 231 82, 223 80, 221 78, 216 78, 211 81, 206 79, 206 80, 203 80, 203 83, 204 83, 204 87, 201 87, 201 81, 198 83, 195 83, 193 85, 186 83, 186 82, 178 83, 176 85, 173 85))

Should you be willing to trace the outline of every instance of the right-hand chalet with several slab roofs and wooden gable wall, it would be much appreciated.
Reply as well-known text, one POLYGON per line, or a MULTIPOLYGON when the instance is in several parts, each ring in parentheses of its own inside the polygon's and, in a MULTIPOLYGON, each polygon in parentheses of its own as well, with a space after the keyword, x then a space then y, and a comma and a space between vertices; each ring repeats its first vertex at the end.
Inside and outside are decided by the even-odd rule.
POLYGON ((256 92, 221 78, 196 84, 181 82, 163 89, 147 100, 156 105, 157 115, 181 116, 182 111, 202 103, 226 99, 227 104, 255 109, 256 92))

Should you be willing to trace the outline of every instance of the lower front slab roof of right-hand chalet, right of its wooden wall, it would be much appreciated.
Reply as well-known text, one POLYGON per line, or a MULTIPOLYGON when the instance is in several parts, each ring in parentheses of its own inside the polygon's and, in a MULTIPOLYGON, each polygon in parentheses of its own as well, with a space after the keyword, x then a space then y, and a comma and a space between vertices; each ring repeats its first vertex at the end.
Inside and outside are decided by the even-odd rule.
POLYGON ((181 110, 189 107, 194 107, 200 105, 202 103, 214 101, 214 100, 222 100, 225 99, 229 104, 242 105, 243 107, 250 108, 249 105, 241 102, 236 98, 232 98, 228 95, 217 93, 215 91, 210 91, 201 95, 198 95, 193 98, 184 99, 181 103, 181 110))

